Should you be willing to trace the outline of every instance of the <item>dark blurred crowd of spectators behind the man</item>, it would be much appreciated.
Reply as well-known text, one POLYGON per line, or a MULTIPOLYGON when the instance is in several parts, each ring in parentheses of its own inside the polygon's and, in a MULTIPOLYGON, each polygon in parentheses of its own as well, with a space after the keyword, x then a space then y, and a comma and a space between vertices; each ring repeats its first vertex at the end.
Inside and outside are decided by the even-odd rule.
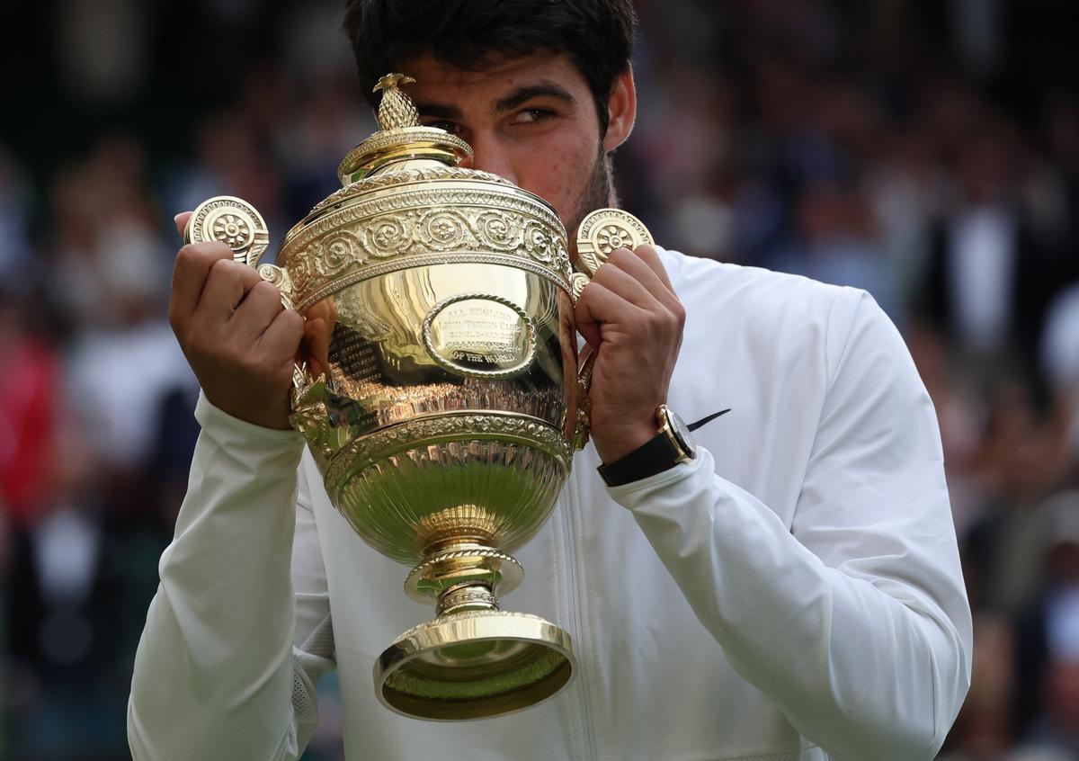
MULTIPOLYGON (((340 14, 0 3, 2 759, 128 758, 197 435, 165 322, 173 216, 235 194, 279 234, 334 189, 374 126, 340 14)), ((942 758, 1079 759, 1079 3, 640 15, 626 208, 667 247, 866 288, 935 402, 975 616, 942 758)), ((308 761, 341 758, 324 691, 308 761)))

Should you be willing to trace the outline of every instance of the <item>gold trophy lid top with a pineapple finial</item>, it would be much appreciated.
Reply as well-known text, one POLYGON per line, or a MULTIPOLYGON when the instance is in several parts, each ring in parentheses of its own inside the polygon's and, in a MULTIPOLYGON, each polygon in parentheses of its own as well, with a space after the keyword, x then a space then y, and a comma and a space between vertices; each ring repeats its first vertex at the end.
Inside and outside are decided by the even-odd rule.
POLYGON ((411 160, 434 160, 456 166, 473 158, 467 142, 445 130, 423 126, 420 113, 400 89, 415 82, 401 73, 390 73, 379 80, 374 92, 382 91, 379 104, 379 132, 345 155, 338 167, 342 185, 351 185, 390 164, 411 160))

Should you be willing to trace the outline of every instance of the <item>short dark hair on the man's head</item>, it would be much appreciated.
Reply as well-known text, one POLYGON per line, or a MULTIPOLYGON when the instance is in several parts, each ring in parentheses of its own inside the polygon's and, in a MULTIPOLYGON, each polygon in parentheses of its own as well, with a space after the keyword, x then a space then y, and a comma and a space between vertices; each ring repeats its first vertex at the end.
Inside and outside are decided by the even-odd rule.
MULTIPOLYGON (((600 135, 607 99, 633 51, 632 0, 345 0, 344 30, 361 90, 401 63, 431 54, 478 71, 495 57, 541 50, 564 53, 596 100, 600 135)), ((408 72, 405 72, 408 73, 408 72)))

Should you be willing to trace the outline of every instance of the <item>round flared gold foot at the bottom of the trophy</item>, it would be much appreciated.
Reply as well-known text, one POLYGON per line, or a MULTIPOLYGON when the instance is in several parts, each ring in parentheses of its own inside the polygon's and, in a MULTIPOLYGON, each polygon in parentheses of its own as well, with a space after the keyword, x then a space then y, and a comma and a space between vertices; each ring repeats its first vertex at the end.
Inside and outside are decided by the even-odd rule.
POLYGON ((547 699, 575 670, 570 635, 554 624, 467 610, 401 635, 374 664, 374 691, 384 706, 416 719, 486 719, 547 699))

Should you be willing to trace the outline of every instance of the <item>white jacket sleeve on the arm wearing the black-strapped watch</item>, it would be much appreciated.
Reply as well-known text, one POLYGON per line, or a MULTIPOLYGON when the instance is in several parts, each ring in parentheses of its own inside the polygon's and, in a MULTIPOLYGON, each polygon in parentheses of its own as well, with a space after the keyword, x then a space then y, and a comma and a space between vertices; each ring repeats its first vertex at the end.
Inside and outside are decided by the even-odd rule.
POLYGON ((962 704, 971 658, 940 433, 872 299, 836 312, 790 528, 716 475, 723 463, 704 450, 610 493, 730 665, 803 736, 836 759, 928 760, 962 704))

